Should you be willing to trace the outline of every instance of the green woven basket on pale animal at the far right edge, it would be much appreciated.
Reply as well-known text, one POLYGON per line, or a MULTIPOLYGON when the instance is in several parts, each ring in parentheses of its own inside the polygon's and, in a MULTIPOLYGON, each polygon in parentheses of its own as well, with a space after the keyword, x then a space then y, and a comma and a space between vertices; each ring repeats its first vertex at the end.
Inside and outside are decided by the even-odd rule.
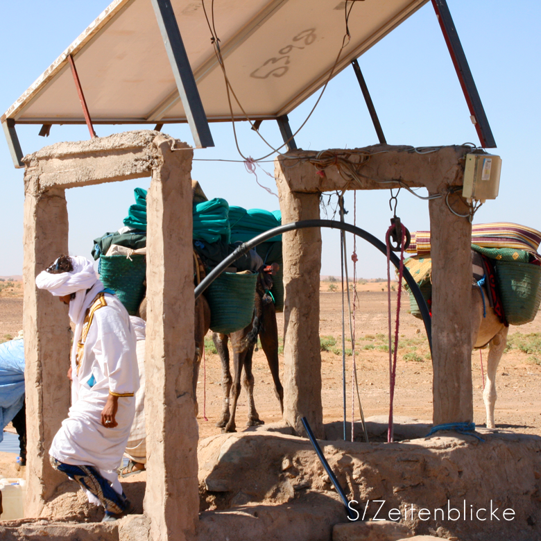
POLYGON ((498 291, 510 325, 535 318, 541 302, 541 267, 516 261, 495 261, 498 291))

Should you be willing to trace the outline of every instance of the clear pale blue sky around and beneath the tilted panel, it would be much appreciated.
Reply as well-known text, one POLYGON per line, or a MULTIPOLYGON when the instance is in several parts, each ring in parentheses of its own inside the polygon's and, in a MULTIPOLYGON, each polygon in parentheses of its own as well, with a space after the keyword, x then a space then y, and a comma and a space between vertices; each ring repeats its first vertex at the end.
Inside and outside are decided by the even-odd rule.
MULTIPOLYGON (((540 173, 535 157, 541 126, 541 33, 538 31, 541 3, 447 1, 495 135, 498 148, 493 152, 503 160, 499 197, 481 207, 474 223, 511 221, 541 229, 536 207, 541 194, 540 173)), ((0 34, 2 113, 108 3, 108 0, 0 0, 0 19, 10 22, 3 25, 0 34)), ((359 63, 389 144, 432 146, 466 141, 479 144, 431 3, 370 49, 359 63)), ((314 101, 313 96, 289 115, 293 130, 304 121, 314 101)), ((124 129, 132 128, 97 126, 96 132, 105 136, 124 129)), ((38 137, 39 130, 40 126, 18 128, 24 153, 57 141, 88 138, 85 126, 53 126, 48 139, 38 137)), ((230 124, 212 124, 211 130, 216 147, 196 151, 196 159, 241 160, 230 124)), ((192 142, 187 126, 166 126, 164 131, 192 142)), ((238 132, 243 153, 252 157, 266 154, 266 147, 248 126, 239 126, 238 132)), ((275 122, 264 122, 261 132, 277 146, 281 144, 275 122)), ((377 143, 351 68, 332 80, 316 112, 295 139, 300 148, 311 150, 377 143)), ((273 172, 272 163, 261 166, 273 172)), ((3 203, 0 275, 21 274, 23 173, 13 168, 3 137, 0 137, 0 171, 3 203)), ((257 174, 259 182, 276 191, 273 180, 261 169, 257 174)), ((261 189, 241 162, 196 161, 192 177, 200 181, 209 198, 223 197, 231 205, 246 208, 278 207, 277 198, 261 189)), ((89 257, 92 239, 121 227, 132 203, 133 188, 146 188, 148 182, 135 180, 67 191, 70 252, 89 257)), ((380 239, 384 238, 392 216, 388 198, 387 190, 357 194, 357 225, 380 239)), ((352 194, 346 196, 346 208, 350 211, 347 220, 353 222, 352 194)), ((429 228, 427 203, 411 194, 400 194, 397 214, 411 231, 429 228)), ((348 246, 352 246, 351 240, 348 246)), ((377 250, 359 241, 357 252, 359 276, 386 275, 385 258, 377 250)), ((337 232, 323 232, 321 272, 340 273, 337 232)))

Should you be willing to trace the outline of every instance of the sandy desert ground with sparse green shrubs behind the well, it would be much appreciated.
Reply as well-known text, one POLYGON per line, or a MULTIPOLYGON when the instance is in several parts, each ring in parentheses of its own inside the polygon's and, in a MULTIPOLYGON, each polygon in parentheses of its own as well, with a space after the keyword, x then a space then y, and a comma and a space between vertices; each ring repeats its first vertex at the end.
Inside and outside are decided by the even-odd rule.
MULTIPOLYGON (((22 329, 22 283, 0 282, 0 340, 15 337, 22 329), (12 284, 9 286, 8 284, 12 284)), ((396 311, 397 284, 391 291, 393 322, 396 311)), ((352 295, 353 296, 353 295, 352 295)), ((359 394, 365 417, 388 415, 388 314, 386 282, 364 281, 357 284, 358 305, 355 309, 355 358, 359 394), (364 283, 363 283, 364 282, 364 283)), ((353 299, 352 299, 353 300, 353 299)), ((347 299, 346 299, 347 302, 347 299)), ((323 280, 320 284, 320 340, 322 344, 322 400, 325 422, 343 419, 343 359, 342 359, 342 295, 339 282, 323 280), (329 289, 336 291, 329 291, 329 289)), ((347 304, 346 304, 347 314, 347 304)), ((283 314, 277 314, 278 329, 283 338, 283 314)), ((394 325, 394 323, 393 323, 394 325)), ((349 325, 345 325, 345 365, 347 419, 352 407, 352 345, 349 325)), ((541 397, 536 393, 541 379, 541 316, 532 323, 511 327, 508 350, 497 371, 495 421, 497 428, 541 435, 541 397)), ((215 426, 223 404, 221 365, 213 353, 211 335, 207 336, 205 363, 200 368, 198 383, 200 438, 220 433, 215 426), (206 420, 205 420, 206 418, 206 420)), ((488 350, 483 350, 486 370, 488 350)), ((283 380, 283 355, 280 354, 283 380)), ((273 381, 262 350, 254 354, 255 403, 261 420, 266 423, 280 420, 280 406, 274 394, 273 381)), ((402 296, 400 341, 395 388, 395 415, 419 420, 432 418, 432 370, 429 347, 422 320, 409 314, 406 293, 402 296)), ((486 422, 482 390, 481 358, 472 353, 472 382, 474 390, 474 422, 486 422)), ((355 400, 355 420, 359 420, 359 406, 355 400)), ((241 391, 237 411, 237 429, 246 423, 248 407, 246 394, 241 391)))

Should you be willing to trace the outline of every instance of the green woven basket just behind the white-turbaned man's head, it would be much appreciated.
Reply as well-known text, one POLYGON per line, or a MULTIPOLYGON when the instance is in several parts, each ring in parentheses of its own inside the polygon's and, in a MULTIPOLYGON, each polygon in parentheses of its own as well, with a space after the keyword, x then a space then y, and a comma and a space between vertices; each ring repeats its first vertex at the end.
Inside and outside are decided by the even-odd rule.
POLYGON ((130 316, 137 314, 145 296, 146 257, 144 255, 102 255, 100 280, 116 293, 130 316))

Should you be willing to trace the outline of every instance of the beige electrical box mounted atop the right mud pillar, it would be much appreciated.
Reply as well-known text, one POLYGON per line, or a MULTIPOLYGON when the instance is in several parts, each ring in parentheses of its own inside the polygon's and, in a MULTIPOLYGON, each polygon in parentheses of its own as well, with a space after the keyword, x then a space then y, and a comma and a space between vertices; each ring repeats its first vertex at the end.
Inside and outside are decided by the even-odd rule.
POLYGON ((484 203, 495 199, 499 191, 501 157, 492 154, 467 154, 462 196, 484 203))

